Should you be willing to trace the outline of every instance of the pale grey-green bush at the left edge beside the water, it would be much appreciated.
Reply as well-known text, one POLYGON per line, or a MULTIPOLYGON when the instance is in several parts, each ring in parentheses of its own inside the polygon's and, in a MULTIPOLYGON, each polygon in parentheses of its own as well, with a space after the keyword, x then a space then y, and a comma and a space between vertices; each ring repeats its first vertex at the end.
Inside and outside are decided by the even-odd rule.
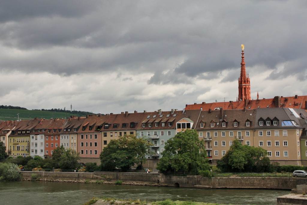
POLYGON ((20 169, 13 163, 0 164, 0 181, 16 181, 20 180, 20 169))

